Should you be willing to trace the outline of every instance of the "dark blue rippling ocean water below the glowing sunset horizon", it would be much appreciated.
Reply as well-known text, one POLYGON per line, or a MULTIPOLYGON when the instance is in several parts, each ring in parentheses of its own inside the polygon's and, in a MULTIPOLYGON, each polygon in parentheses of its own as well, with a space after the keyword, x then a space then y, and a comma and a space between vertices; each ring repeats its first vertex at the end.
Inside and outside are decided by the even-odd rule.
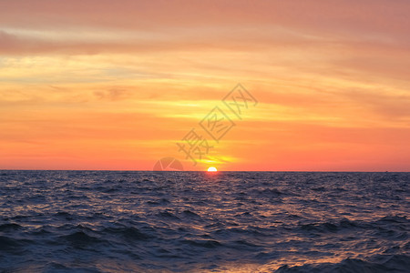
POLYGON ((410 272, 410 173, 0 171, 0 272, 410 272))

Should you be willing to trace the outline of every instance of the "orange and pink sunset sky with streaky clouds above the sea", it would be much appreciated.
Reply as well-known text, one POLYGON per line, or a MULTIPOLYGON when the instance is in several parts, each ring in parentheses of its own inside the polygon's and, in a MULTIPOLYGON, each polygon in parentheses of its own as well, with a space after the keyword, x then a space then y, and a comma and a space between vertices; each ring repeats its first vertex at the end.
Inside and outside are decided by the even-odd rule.
POLYGON ((2 0, 0 169, 410 171, 409 12, 2 0))

